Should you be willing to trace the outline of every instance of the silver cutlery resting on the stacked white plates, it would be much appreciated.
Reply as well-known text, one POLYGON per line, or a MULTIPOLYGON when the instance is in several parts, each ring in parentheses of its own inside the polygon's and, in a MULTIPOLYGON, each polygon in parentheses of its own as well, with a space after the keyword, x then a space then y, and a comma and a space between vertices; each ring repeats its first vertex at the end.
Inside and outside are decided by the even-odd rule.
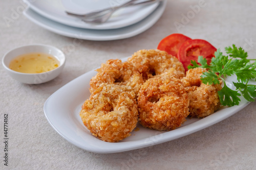
POLYGON ((87 13, 87 14, 75 14, 75 13, 71 13, 68 11, 66 11, 66 13, 68 15, 78 17, 78 18, 82 19, 82 21, 84 21, 84 22, 103 23, 103 22, 107 21, 116 10, 118 10, 120 8, 123 8, 126 6, 135 6, 135 5, 159 2, 159 0, 148 0, 148 1, 140 2, 140 3, 135 3, 135 1, 138 1, 138 0, 131 0, 131 1, 124 3, 120 6, 106 8, 103 10, 99 10, 99 11, 95 11, 95 12, 91 12, 91 13, 87 13))

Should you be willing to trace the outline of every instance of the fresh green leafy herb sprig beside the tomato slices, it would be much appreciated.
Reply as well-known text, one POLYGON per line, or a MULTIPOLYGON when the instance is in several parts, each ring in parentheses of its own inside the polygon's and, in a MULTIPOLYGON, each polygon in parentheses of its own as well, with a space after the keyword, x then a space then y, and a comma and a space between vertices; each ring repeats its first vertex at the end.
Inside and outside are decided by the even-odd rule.
POLYGON ((225 51, 228 54, 227 56, 223 55, 220 50, 217 50, 215 57, 211 59, 209 65, 205 58, 199 56, 198 63, 200 63, 200 65, 196 61, 191 60, 191 64, 193 65, 189 65, 188 69, 196 67, 207 68, 208 71, 203 72, 201 76, 201 80, 204 84, 220 84, 220 80, 222 80, 224 85, 218 93, 223 106, 239 105, 241 101, 239 96, 241 96, 241 94, 247 101, 255 101, 256 85, 248 84, 251 79, 256 81, 256 62, 250 62, 255 59, 247 59, 247 52, 241 47, 236 47, 234 44, 232 47, 226 47, 225 51), (238 82, 233 82, 236 90, 230 89, 224 79, 232 75, 237 76, 238 82))

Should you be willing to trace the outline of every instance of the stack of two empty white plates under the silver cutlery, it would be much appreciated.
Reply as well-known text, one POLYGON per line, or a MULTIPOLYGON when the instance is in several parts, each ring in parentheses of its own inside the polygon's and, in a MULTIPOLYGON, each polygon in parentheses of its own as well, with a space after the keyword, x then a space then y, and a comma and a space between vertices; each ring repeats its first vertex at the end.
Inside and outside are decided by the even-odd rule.
POLYGON ((37 25, 54 33, 86 40, 117 40, 138 35, 161 17, 166 0, 150 5, 122 8, 101 24, 83 22, 65 11, 87 13, 124 3, 127 0, 24 0, 24 15, 37 25))

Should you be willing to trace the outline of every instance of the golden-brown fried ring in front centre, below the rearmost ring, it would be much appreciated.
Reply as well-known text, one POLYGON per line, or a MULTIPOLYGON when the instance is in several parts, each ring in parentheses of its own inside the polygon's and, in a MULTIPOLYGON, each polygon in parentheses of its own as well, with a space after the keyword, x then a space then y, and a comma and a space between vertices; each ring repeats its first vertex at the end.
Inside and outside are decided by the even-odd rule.
POLYGON ((139 121, 155 130, 174 130, 188 116, 188 95, 179 79, 148 79, 138 94, 139 121))

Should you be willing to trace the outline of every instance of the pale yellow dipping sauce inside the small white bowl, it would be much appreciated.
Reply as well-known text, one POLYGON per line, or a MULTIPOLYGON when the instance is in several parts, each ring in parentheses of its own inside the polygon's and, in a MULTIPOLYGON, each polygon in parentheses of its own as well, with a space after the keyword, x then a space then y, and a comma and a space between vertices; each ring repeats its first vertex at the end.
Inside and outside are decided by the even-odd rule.
POLYGON ((59 61, 50 54, 28 53, 17 56, 10 64, 9 68, 23 73, 41 73, 53 70, 59 66, 59 61))

